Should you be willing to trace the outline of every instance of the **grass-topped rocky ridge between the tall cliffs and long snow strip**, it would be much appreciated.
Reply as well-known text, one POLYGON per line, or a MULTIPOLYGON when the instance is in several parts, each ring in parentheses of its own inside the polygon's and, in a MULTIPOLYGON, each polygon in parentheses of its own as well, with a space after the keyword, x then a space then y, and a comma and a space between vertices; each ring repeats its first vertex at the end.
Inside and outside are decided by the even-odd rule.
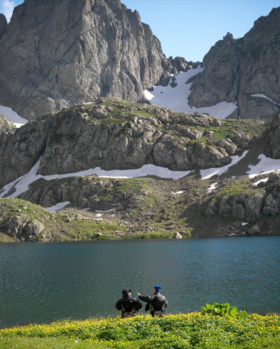
POLYGON ((41 156, 42 175, 98 166, 123 170, 153 164, 176 171, 224 166, 261 132, 260 124, 243 124, 100 98, 43 114, 11 133, 0 144, 0 187, 26 174, 41 156))

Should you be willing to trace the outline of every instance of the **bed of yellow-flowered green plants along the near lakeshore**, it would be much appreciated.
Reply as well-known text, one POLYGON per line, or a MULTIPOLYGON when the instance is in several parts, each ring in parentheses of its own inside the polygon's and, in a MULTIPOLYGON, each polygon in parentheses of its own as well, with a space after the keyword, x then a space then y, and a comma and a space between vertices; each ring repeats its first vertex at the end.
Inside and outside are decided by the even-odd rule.
MULTIPOLYGON (((40 337, 56 338, 63 343, 68 340, 68 348, 72 348, 71 342, 74 340, 79 341, 78 345, 83 345, 81 342, 85 342, 88 348, 98 348, 99 345, 110 348, 143 349, 279 348, 280 315, 250 314, 237 320, 195 312, 166 315, 163 318, 139 315, 130 319, 64 320, 49 325, 31 324, 0 329, 1 348, 5 348, 7 337, 12 337, 14 340, 19 336, 25 337, 22 340, 26 340, 26 337, 29 339, 34 337, 36 341, 40 340, 40 337)), ((6 347, 10 346, 9 344, 6 347)), ((40 347, 48 348, 45 344, 40 347)), ((64 346, 50 347, 64 348, 64 346)))

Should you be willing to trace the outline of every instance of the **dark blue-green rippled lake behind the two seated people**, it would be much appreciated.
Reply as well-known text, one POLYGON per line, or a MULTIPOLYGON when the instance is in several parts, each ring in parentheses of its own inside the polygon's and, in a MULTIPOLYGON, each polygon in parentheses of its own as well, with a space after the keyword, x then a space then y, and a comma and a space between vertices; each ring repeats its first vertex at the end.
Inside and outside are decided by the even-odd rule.
POLYGON ((115 316, 123 288, 156 284, 167 313, 216 301, 280 313, 279 251, 280 236, 0 244, 0 327, 115 316))

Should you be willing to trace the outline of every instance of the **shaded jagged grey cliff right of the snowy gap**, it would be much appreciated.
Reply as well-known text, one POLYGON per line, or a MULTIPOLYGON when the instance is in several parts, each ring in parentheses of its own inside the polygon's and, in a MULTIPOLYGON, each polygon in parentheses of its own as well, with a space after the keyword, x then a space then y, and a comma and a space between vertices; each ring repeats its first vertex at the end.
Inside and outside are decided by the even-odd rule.
POLYGON ((254 22, 241 39, 228 33, 205 55, 189 105, 237 102, 234 116, 262 119, 280 111, 280 7, 254 22), (261 94, 270 98, 254 97, 261 94))

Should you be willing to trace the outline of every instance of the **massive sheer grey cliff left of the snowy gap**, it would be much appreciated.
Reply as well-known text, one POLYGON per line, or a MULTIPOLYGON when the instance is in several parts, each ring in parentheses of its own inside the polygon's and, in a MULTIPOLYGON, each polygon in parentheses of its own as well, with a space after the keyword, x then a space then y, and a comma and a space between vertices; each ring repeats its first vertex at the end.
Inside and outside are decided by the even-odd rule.
POLYGON ((149 25, 119 0, 25 0, 5 34, 4 24, 0 104, 29 120, 99 96, 144 101, 167 61, 149 25))

